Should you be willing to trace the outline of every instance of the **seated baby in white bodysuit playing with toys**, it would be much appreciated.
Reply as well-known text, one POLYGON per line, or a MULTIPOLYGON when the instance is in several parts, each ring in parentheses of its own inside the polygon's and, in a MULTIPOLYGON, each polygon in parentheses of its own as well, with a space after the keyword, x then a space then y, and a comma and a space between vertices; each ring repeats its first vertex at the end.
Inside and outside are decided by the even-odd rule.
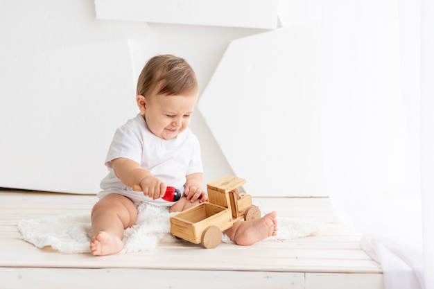
MULTIPOLYGON (((123 230, 136 222, 140 202, 177 212, 208 200, 200 144, 189 129, 198 94, 196 74, 184 59, 157 55, 146 63, 137 83, 140 113, 116 130, 105 160, 110 172, 92 209, 93 255, 123 249, 123 230), (167 186, 180 189, 180 200, 162 199, 167 186)), ((277 234, 276 215, 238 221, 225 234, 238 245, 251 245, 277 234)))

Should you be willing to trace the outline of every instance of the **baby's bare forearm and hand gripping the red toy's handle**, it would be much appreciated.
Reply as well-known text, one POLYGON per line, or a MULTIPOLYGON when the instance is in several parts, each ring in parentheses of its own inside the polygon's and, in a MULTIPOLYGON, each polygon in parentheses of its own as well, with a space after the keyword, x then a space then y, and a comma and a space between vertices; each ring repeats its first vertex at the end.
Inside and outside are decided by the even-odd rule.
POLYGON ((144 195, 156 200, 162 198, 166 192, 166 184, 154 177, 150 171, 145 170, 136 161, 125 158, 112 160, 112 168, 116 177, 119 177, 126 186, 139 184, 144 195))

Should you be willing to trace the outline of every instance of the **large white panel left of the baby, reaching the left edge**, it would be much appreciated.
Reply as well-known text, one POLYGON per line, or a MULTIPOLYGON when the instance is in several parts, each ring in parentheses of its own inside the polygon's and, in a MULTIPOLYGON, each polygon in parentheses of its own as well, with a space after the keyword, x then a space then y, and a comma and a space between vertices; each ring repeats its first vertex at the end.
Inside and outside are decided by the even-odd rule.
POLYGON ((0 186, 96 193, 114 130, 137 113, 128 41, 0 62, 0 186))

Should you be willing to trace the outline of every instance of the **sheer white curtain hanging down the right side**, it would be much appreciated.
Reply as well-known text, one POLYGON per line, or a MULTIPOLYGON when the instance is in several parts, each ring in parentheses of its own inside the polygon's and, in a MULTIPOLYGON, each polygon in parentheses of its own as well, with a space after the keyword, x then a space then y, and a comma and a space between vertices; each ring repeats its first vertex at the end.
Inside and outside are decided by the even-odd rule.
POLYGON ((327 190, 386 288, 434 288, 431 2, 322 3, 327 190))

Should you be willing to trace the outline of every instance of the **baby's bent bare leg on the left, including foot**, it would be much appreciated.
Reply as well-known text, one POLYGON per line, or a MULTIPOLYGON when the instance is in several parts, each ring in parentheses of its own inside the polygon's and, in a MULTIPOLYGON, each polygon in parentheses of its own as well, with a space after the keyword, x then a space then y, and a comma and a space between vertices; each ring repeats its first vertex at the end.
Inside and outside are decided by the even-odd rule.
POLYGON ((99 200, 92 209, 93 255, 116 254, 123 249, 123 229, 134 225, 137 208, 123 195, 111 194, 99 200))

